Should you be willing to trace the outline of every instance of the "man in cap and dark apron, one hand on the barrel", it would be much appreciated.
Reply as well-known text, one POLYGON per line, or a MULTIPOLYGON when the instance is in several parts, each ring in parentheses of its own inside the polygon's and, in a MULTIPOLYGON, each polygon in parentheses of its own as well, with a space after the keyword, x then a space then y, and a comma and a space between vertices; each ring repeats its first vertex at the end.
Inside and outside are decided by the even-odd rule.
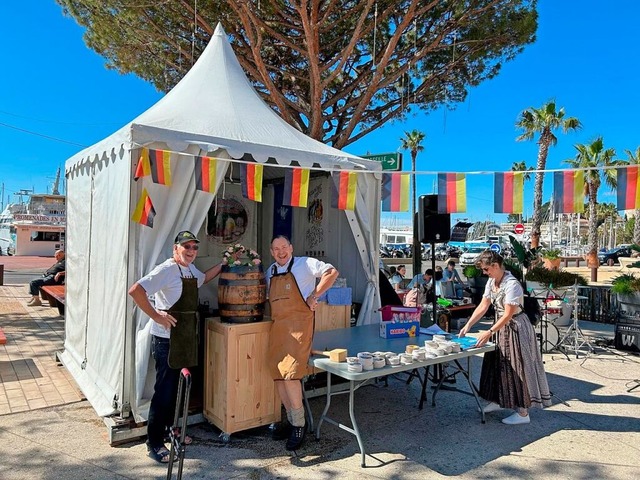
MULTIPOLYGON (((193 233, 179 232, 171 258, 129 289, 136 305, 153 320, 150 333, 156 381, 149 407, 147 446, 149 456, 160 463, 169 461, 164 436, 173 421, 180 368, 197 365, 198 288, 222 268, 222 264, 214 265, 203 273, 193 265, 199 243, 193 233), (154 296, 153 304, 150 295, 154 296)), ((185 444, 191 441, 185 437, 185 444)))

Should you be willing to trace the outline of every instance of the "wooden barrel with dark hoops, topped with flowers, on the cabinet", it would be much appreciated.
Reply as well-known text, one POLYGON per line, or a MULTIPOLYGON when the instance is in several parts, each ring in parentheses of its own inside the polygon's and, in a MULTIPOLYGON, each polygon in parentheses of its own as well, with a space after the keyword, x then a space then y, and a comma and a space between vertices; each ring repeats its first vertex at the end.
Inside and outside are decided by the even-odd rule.
POLYGON ((261 322, 267 300, 262 264, 223 265, 218 280, 220 320, 227 323, 261 322))

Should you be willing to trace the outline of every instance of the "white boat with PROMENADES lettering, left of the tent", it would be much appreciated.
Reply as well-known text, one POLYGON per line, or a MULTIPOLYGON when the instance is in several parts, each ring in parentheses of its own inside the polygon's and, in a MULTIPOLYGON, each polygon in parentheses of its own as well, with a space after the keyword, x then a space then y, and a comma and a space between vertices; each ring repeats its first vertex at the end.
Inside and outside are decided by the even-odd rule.
POLYGON ((2 255, 53 256, 64 250, 67 223, 66 197, 58 193, 60 169, 53 193, 19 192, 19 201, 0 213, 2 255), (28 201, 24 201, 24 197, 28 201))

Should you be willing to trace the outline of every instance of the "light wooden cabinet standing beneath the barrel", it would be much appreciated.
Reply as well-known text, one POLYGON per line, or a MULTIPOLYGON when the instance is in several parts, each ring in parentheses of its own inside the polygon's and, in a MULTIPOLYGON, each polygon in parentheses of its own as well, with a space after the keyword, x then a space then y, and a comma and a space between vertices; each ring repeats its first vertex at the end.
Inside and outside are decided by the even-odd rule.
POLYGON ((207 319, 203 414, 225 434, 280 421, 267 368, 271 323, 207 319))

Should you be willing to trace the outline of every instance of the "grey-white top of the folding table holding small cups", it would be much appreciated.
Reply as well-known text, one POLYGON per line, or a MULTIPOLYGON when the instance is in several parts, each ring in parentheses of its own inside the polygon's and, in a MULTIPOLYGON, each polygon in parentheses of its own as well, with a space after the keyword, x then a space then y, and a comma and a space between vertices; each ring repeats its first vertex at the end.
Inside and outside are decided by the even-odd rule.
MULTIPOLYGON (((359 327, 340 328, 316 332, 313 338, 314 350, 332 350, 334 348, 346 348, 348 355, 355 357, 358 352, 395 352, 404 353, 407 345, 424 346, 425 340, 430 340, 430 335, 417 337, 382 338, 380 337, 380 325, 363 325, 359 327)), ((346 362, 332 362, 325 356, 312 356, 309 365, 338 375, 347 380, 367 380, 369 378, 392 375, 406 370, 437 365, 438 363, 451 362, 471 355, 490 352, 495 349, 495 344, 487 343, 479 348, 471 348, 459 353, 450 353, 442 357, 429 358, 422 362, 413 362, 409 365, 386 365, 383 368, 366 370, 361 373, 349 372, 346 362)))

